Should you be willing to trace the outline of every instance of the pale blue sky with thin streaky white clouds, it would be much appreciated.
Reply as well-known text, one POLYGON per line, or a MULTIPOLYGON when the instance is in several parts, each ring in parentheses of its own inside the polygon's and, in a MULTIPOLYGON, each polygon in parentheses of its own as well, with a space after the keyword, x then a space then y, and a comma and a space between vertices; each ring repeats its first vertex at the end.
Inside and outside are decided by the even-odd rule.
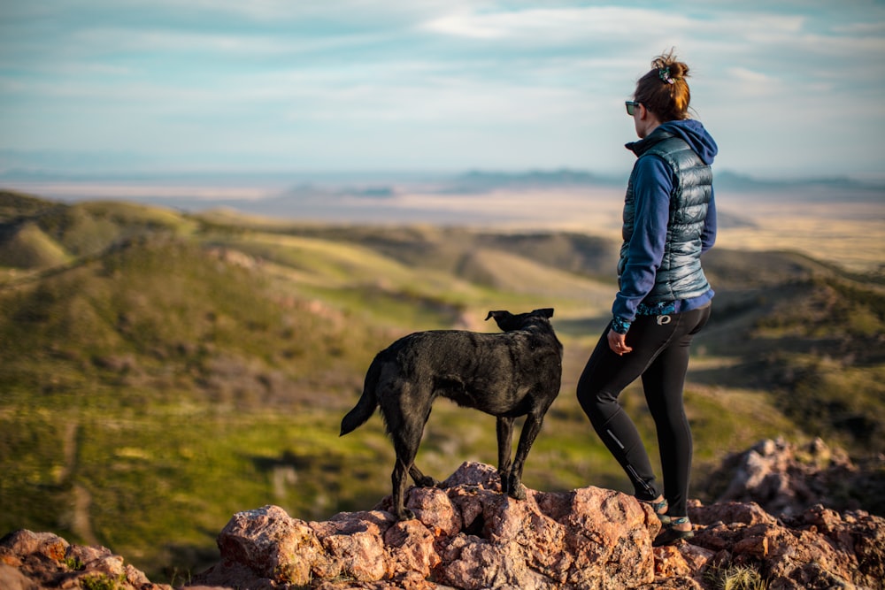
POLYGON ((717 169, 885 178, 882 0, 0 0, 0 175, 618 173, 670 48, 717 169))

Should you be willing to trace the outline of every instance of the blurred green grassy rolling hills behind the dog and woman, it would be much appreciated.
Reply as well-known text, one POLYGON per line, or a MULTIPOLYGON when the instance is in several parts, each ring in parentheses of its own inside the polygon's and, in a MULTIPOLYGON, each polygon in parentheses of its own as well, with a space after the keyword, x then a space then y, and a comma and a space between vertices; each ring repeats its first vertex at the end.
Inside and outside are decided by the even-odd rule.
MULTIPOLYGON (((419 329, 496 331, 491 309, 552 306, 566 346, 527 485, 627 490, 573 395, 616 246, 0 193, 0 534, 100 543, 164 581, 212 562, 238 510, 371 508, 393 465, 381 420, 338 427, 374 353, 419 329)), ((718 296, 687 391, 695 493, 766 436, 885 450, 880 287, 789 253, 714 250, 706 266, 718 296)), ((640 390, 623 402, 653 441, 640 390)), ((494 464, 494 430, 442 402, 419 464, 494 464)))

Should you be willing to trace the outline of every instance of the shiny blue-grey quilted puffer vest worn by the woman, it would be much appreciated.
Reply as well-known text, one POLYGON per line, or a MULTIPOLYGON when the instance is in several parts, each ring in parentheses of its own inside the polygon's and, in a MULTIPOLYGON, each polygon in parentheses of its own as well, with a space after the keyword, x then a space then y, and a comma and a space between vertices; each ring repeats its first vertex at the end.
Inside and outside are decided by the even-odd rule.
MULTIPOLYGON (((661 131, 661 130, 658 130, 661 131)), ((701 268, 701 233, 707 205, 712 195, 712 169, 689 147, 685 140, 668 132, 649 136, 638 157, 659 156, 675 172, 675 185, 670 195, 670 218, 666 228, 664 257, 655 277, 655 286, 643 303, 673 302, 704 295, 710 284, 701 268)), ((627 182, 624 203, 624 243, 620 248, 618 275, 627 264, 627 248, 635 222, 633 174, 627 182)))

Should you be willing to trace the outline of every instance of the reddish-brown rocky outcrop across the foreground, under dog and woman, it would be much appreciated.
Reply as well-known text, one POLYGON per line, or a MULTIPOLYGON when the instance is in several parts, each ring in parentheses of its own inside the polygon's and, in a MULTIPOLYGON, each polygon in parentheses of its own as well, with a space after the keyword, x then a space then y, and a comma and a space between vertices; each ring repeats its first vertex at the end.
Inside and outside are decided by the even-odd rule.
MULTIPOLYGON (((219 534, 219 563, 190 590, 706 590, 730 571, 752 571, 770 590, 873 590, 885 579, 885 519, 861 510, 774 517, 756 502, 692 502, 690 543, 652 548, 658 519, 629 495, 527 490, 515 501, 499 489, 494 468, 466 463, 409 491, 414 520, 396 522, 389 498, 323 522, 276 506, 239 512, 219 534)), ((28 531, 0 540, 0 587, 170 588, 106 548, 28 531)))

